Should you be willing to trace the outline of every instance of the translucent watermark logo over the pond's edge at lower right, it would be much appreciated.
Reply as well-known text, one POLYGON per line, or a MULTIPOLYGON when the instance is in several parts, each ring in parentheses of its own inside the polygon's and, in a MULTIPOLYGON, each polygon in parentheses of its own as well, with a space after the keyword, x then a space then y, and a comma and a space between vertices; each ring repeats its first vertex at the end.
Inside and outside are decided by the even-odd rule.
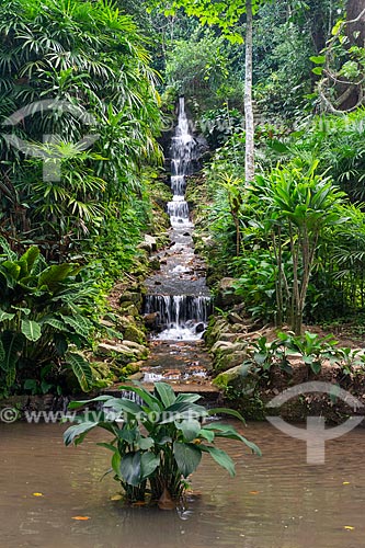
MULTIPOLYGON (((335 396, 335 398, 339 398, 347 403, 353 411, 364 409, 364 404, 357 398, 352 396, 352 393, 332 385, 331 383, 321 381, 304 383, 301 385, 290 387, 271 400, 267 403, 267 407, 278 408, 292 398, 312 392, 327 393, 331 398, 335 396)), ((284 432, 290 437, 306 442, 307 464, 323 465, 326 461, 326 442, 329 439, 337 439, 338 437, 347 434, 360 425, 364 416, 351 416, 343 424, 332 429, 326 429, 326 421, 323 416, 307 416, 307 425, 305 429, 294 426, 280 416, 266 416, 266 419, 281 432, 284 432)))

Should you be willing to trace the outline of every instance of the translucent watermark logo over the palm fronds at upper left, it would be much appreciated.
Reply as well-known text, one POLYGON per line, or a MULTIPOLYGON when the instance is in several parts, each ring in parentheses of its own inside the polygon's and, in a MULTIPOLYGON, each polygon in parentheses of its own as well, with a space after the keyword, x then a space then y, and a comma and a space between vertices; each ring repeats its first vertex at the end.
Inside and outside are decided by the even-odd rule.
MULTIPOLYGON (((43 101, 35 101, 34 103, 27 104, 23 109, 11 114, 2 123, 3 126, 13 126, 24 121, 27 116, 32 116, 36 113, 53 113, 55 117, 60 117, 64 114, 71 114, 81 124, 89 126, 95 126, 96 119, 85 112, 80 106, 77 106, 67 101, 59 101, 47 99, 43 101)), ((44 134, 43 144, 39 146, 36 142, 26 141, 21 139, 15 134, 2 134, 8 145, 16 148, 26 156, 32 156, 34 158, 42 158, 43 162, 43 180, 44 181, 60 181, 60 167, 62 158, 67 158, 65 153, 61 152, 60 148, 57 148, 57 144, 61 141, 61 137, 57 134, 44 134)), ((87 134, 82 139, 73 145, 75 149, 78 151, 87 150, 92 147, 92 145, 99 139, 99 134, 87 134)))

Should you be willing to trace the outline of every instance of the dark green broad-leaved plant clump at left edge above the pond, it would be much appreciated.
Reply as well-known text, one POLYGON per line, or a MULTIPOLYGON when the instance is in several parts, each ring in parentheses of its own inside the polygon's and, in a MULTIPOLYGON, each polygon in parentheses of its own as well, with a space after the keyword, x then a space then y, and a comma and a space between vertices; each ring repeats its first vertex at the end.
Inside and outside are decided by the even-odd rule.
POLYGON ((47 264, 35 246, 21 256, 0 246, 0 395, 60 392, 68 372, 88 391, 94 377, 80 351, 105 330, 91 306, 103 302, 96 284, 76 263, 47 264))

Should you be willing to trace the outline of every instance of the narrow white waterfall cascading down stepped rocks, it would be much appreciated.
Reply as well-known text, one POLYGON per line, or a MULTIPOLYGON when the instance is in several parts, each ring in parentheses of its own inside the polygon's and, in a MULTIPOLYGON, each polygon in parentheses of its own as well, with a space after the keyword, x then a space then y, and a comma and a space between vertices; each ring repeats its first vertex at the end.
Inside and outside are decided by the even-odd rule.
POLYGON ((178 125, 171 142, 172 201, 167 210, 171 222, 171 247, 158 256, 160 273, 152 276, 145 298, 145 312, 156 313, 160 332, 152 339, 194 341, 202 338, 210 309, 204 269, 194 254, 186 175, 193 171, 196 142, 190 132, 184 98, 179 101, 178 125), (203 274, 202 274, 203 273, 203 274))

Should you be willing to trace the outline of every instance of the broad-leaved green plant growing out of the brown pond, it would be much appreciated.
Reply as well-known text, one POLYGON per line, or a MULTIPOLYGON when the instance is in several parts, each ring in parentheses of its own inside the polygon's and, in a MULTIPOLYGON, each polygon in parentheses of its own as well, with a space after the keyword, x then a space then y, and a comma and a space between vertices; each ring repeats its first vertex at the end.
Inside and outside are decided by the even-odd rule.
POLYGON ((152 500, 162 495, 178 500, 186 488, 185 478, 196 470, 203 453, 209 454, 233 476, 235 464, 216 447, 217 438, 237 439, 261 455, 259 447, 231 424, 204 423, 204 419, 216 413, 230 414, 244 422, 237 411, 225 408, 206 410, 196 403, 199 395, 175 396, 166 383, 156 383, 153 393, 141 386, 122 386, 121 389, 135 392, 139 403, 111 396, 73 401, 69 409, 91 402, 101 402, 103 408, 98 420, 92 412, 77 416, 77 424, 65 432, 64 441, 66 445, 78 445, 95 426, 110 432, 112 441, 99 445, 112 452, 110 471, 122 483, 128 502, 144 501, 148 493, 152 500))

